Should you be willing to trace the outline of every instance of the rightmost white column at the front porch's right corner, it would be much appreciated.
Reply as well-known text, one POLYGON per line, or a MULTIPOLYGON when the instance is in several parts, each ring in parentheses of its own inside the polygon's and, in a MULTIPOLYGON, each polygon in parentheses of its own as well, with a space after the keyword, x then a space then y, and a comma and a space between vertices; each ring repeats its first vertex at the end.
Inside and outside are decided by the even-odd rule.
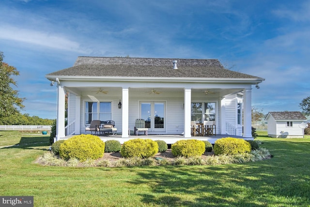
POLYGON ((252 111, 251 111, 252 89, 244 89, 243 95, 243 137, 252 137, 252 111))

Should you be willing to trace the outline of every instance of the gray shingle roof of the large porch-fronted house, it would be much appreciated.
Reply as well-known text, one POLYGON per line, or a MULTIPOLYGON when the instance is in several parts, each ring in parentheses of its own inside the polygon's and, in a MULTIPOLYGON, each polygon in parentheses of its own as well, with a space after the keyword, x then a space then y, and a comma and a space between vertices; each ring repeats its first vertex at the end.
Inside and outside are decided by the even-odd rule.
POLYGON ((47 76, 262 79, 225 69, 216 59, 110 57, 78 57, 73 67, 47 76), (174 60, 178 69, 173 69, 174 60))

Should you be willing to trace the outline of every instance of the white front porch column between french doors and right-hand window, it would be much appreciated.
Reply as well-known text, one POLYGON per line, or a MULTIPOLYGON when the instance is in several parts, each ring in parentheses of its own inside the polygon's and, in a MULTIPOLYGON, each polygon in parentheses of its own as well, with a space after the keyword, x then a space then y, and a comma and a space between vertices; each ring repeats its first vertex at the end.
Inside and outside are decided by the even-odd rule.
POLYGON ((191 138, 191 89, 184 89, 184 137, 191 138))

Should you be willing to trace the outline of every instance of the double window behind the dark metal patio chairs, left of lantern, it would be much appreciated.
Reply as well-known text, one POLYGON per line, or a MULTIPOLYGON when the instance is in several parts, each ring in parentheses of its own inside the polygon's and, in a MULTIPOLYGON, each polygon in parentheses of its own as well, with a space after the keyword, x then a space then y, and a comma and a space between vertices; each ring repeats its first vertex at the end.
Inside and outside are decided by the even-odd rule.
POLYGON ((112 119, 111 102, 86 102, 85 103, 85 124, 92 120, 107 121, 112 119), (99 111, 99 113, 98 113, 99 111))

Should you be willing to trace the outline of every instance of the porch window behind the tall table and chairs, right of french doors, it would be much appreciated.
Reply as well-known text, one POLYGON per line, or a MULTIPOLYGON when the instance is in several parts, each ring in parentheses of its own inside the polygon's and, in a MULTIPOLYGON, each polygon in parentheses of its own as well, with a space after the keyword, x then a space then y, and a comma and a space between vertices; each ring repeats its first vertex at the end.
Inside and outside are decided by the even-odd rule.
POLYGON ((202 102, 191 103, 191 120, 203 123, 203 121, 215 121, 216 103, 202 102))

